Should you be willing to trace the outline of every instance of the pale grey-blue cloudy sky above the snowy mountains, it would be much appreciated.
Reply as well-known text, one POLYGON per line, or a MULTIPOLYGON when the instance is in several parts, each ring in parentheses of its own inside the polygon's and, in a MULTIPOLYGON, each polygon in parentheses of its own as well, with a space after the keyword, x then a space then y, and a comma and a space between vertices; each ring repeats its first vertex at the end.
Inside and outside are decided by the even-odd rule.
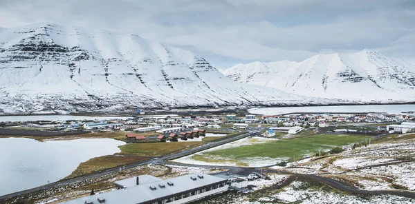
POLYGON ((216 68, 365 48, 415 62, 414 0, 0 0, 0 27, 38 22, 139 34, 216 68))

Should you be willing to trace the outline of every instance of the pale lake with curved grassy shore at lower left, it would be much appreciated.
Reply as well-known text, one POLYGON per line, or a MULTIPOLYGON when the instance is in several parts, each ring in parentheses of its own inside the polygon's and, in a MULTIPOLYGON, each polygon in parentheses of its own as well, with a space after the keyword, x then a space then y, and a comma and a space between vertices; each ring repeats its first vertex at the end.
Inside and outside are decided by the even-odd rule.
POLYGON ((80 163, 120 152, 118 146, 124 144, 114 139, 0 138, 0 196, 64 179, 80 163))

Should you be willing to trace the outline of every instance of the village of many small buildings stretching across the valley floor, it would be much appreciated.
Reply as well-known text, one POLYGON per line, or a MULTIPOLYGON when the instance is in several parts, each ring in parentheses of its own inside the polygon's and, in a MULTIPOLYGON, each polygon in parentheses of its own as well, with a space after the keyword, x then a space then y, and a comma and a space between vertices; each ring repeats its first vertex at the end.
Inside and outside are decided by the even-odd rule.
MULTIPOLYGON (((379 125, 376 130, 367 134, 385 132, 411 132, 415 128, 415 112, 388 114, 386 112, 367 112, 358 114, 281 114, 281 115, 145 115, 138 114, 129 119, 109 119, 102 121, 86 120, 53 120, 53 121, 4 121, 3 129, 48 130, 56 132, 108 132, 124 131, 125 141, 160 141, 177 142, 192 141, 205 136, 206 132, 221 133, 252 128, 269 127, 258 136, 273 137, 275 132, 297 134, 302 130, 327 128, 356 124, 379 125), (382 127, 381 127, 382 126, 382 127)), ((358 130, 333 129, 333 132, 360 133, 358 130)))

